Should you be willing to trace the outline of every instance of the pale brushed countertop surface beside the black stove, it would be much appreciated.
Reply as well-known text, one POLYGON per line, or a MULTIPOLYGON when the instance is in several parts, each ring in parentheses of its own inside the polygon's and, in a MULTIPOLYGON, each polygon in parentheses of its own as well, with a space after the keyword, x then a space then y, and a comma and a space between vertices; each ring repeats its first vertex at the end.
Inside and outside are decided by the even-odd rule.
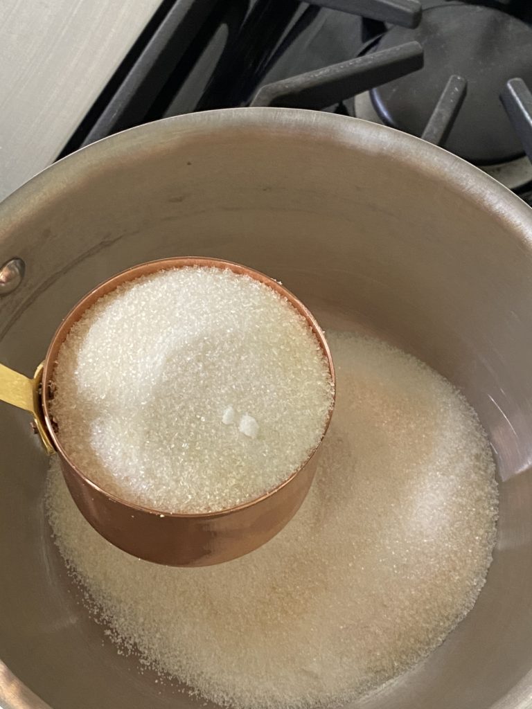
POLYGON ((0 200, 53 162, 160 0, 1 0, 0 200))

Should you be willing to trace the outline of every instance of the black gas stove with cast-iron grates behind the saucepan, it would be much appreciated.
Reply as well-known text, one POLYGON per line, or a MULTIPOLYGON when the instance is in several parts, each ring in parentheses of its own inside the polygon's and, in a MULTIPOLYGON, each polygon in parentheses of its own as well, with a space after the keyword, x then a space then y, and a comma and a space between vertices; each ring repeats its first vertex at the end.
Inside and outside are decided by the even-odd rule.
POLYGON ((526 0, 166 0, 62 151, 231 106, 357 116, 445 147, 532 204, 526 0))

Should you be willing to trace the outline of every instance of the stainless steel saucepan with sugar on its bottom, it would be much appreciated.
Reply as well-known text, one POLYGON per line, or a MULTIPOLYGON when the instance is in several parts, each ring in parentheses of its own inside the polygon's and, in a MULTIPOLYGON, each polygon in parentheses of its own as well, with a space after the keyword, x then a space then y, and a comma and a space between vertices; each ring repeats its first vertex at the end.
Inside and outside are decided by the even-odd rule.
MULTIPOLYGON (((489 432, 497 549, 443 645, 350 709, 530 709, 531 235, 516 196, 390 128, 276 108, 172 118, 67 157, 2 203, 0 361, 31 374, 94 283, 176 253, 248 264, 325 328, 413 352, 460 386, 489 432)), ((199 706, 104 642, 50 541, 47 459, 26 415, 1 407, 0 430, 0 706, 199 706)))

